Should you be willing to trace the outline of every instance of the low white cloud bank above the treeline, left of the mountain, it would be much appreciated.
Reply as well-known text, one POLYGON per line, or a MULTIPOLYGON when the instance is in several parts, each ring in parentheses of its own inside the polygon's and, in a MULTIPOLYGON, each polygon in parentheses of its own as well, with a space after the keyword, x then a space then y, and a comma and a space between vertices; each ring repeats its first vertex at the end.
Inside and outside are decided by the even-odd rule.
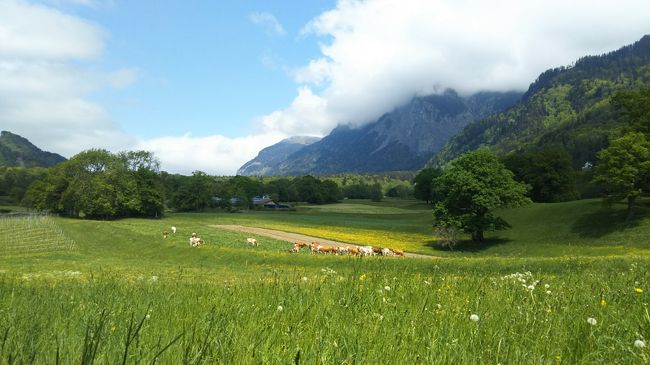
POLYGON ((240 138, 220 135, 161 137, 140 141, 135 149, 153 152, 165 171, 191 174, 200 170, 211 175, 234 175, 264 147, 279 142, 285 135, 257 134, 240 138))

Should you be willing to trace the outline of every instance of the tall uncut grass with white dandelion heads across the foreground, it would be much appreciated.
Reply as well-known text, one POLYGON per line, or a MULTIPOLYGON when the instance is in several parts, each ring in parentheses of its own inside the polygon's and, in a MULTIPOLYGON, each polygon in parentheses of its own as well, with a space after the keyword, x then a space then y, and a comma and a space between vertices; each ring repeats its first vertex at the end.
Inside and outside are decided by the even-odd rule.
POLYGON ((648 347, 634 345, 650 339, 647 261, 578 265, 570 275, 351 265, 244 281, 5 274, 0 362, 650 361, 648 347))

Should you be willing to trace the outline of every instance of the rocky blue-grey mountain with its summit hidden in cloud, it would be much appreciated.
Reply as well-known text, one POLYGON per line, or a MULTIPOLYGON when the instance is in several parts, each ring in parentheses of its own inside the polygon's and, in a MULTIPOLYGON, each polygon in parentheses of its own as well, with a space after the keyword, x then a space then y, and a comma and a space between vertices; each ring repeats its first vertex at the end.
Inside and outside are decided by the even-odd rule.
POLYGON ((518 92, 462 97, 453 90, 416 97, 360 128, 338 126, 289 155, 273 175, 418 170, 469 122, 504 110, 520 97, 518 92))

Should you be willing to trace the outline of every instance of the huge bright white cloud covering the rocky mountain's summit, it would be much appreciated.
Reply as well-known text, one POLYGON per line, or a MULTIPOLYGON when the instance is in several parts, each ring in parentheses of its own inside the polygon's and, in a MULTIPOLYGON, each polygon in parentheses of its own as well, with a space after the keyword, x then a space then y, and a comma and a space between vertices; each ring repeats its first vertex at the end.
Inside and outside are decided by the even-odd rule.
POLYGON ((646 0, 340 0, 303 29, 322 37, 321 56, 294 70, 298 95, 261 125, 323 134, 446 88, 525 90, 548 68, 650 33, 648 14, 646 0))

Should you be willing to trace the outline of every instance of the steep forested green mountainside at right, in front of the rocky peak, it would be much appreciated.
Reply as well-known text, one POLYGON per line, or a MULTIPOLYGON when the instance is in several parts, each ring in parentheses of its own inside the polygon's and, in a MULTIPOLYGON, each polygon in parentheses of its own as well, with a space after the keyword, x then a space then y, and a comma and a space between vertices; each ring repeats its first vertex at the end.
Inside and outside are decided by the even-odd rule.
POLYGON ((429 161, 442 165, 488 147, 498 154, 562 148, 574 165, 593 162, 624 124, 610 107, 619 91, 650 87, 650 36, 616 51, 543 72, 521 101, 467 125, 429 161))

